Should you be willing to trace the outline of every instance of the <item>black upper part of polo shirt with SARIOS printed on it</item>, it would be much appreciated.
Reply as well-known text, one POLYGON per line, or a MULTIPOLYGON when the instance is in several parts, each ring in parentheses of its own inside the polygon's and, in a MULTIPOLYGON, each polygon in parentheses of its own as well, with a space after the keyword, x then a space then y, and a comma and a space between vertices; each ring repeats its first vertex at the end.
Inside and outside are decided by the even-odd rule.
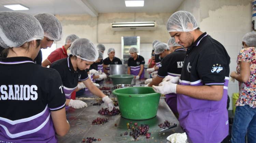
POLYGON ((0 58, 0 69, 0 117, 14 121, 45 108, 56 111, 65 107, 63 85, 56 70, 35 64, 28 57, 0 58))

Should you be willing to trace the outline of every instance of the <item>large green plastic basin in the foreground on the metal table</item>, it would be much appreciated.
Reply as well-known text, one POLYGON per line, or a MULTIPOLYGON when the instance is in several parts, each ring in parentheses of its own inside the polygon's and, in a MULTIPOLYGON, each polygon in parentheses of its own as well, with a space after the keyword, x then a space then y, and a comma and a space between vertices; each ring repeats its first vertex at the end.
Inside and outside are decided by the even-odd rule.
POLYGON ((116 89, 121 116, 130 120, 145 120, 156 116, 160 94, 152 87, 131 87, 116 89))

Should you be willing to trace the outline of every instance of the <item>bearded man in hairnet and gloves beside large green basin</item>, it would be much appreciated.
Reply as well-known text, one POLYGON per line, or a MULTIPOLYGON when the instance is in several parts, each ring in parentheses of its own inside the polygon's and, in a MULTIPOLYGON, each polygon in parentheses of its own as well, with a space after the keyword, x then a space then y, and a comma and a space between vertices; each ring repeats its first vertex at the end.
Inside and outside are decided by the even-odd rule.
POLYGON ((230 57, 221 43, 200 31, 189 12, 172 14, 167 30, 177 43, 187 48, 181 77, 173 81, 175 77, 167 76, 159 86, 152 87, 161 94, 177 93, 180 125, 194 143, 222 142, 229 128, 230 57))

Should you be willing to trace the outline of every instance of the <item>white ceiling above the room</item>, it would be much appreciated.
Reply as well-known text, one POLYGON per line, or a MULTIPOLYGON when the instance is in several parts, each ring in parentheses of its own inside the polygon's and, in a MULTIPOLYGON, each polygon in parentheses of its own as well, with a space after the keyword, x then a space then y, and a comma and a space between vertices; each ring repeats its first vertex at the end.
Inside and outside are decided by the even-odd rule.
POLYGON ((145 0, 144 7, 126 7, 125 0, 1 0, 0 11, 13 11, 3 4, 19 3, 29 14, 174 13, 183 0, 145 0))

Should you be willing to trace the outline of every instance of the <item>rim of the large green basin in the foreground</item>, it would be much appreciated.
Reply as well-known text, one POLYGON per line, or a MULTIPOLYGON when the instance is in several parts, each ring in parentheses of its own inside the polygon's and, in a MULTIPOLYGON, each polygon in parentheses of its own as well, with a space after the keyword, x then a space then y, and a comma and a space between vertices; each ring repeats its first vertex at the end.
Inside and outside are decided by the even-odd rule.
POLYGON ((116 91, 118 91, 118 90, 127 90, 127 89, 134 89, 134 88, 148 88, 148 89, 150 89, 150 88, 152 88, 152 87, 129 87, 129 88, 120 88, 120 89, 115 89, 115 90, 113 90, 112 91, 112 94, 114 94, 114 95, 118 95, 118 96, 125 96, 125 97, 127 97, 127 96, 132 96, 132 97, 144 97, 144 96, 155 96, 155 95, 158 95, 159 94, 159 96, 161 95, 160 93, 157 93, 157 92, 155 92, 155 93, 148 93, 147 95, 145 95, 145 94, 124 94, 124 93, 116 93, 116 91))

